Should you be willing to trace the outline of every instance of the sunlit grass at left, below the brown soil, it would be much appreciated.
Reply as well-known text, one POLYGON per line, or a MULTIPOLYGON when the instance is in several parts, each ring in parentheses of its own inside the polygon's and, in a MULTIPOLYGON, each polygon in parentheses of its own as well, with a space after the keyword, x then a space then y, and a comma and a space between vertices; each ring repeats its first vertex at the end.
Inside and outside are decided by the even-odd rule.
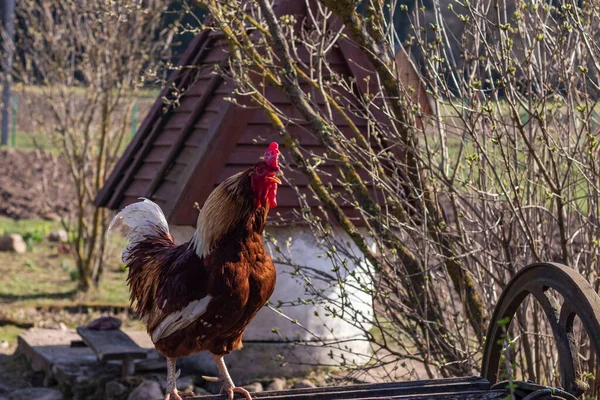
MULTIPOLYGON (((57 222, 13 221, 0 217, 0 233, 50 232, 58 226, 57 222)), ((25 329, 24 323, 40 326, 39 321, 50 319, 74 328, 99 317, 102 309, 127 309, 127 271, 121 268, 118 257, 124 238, 112 235, 109 239, 102 282, 98 289, 88 293, 77 292, 77 281, 72 279, 75 261, 64 244, 42 239, 23 254, 0 252, 0 276, 3 277, 0 279, 0 341, 6 340, 9 344, 9 348, 0 349, 0 353, 14 351, 17 336, 25 329), (71 311, 63 311, 67 309, 71 311), (83 311, 73 311, 77 309, 83 311)), ((139 321, 121 318, 125 318, 124 327, 143 329, 139 321)))

